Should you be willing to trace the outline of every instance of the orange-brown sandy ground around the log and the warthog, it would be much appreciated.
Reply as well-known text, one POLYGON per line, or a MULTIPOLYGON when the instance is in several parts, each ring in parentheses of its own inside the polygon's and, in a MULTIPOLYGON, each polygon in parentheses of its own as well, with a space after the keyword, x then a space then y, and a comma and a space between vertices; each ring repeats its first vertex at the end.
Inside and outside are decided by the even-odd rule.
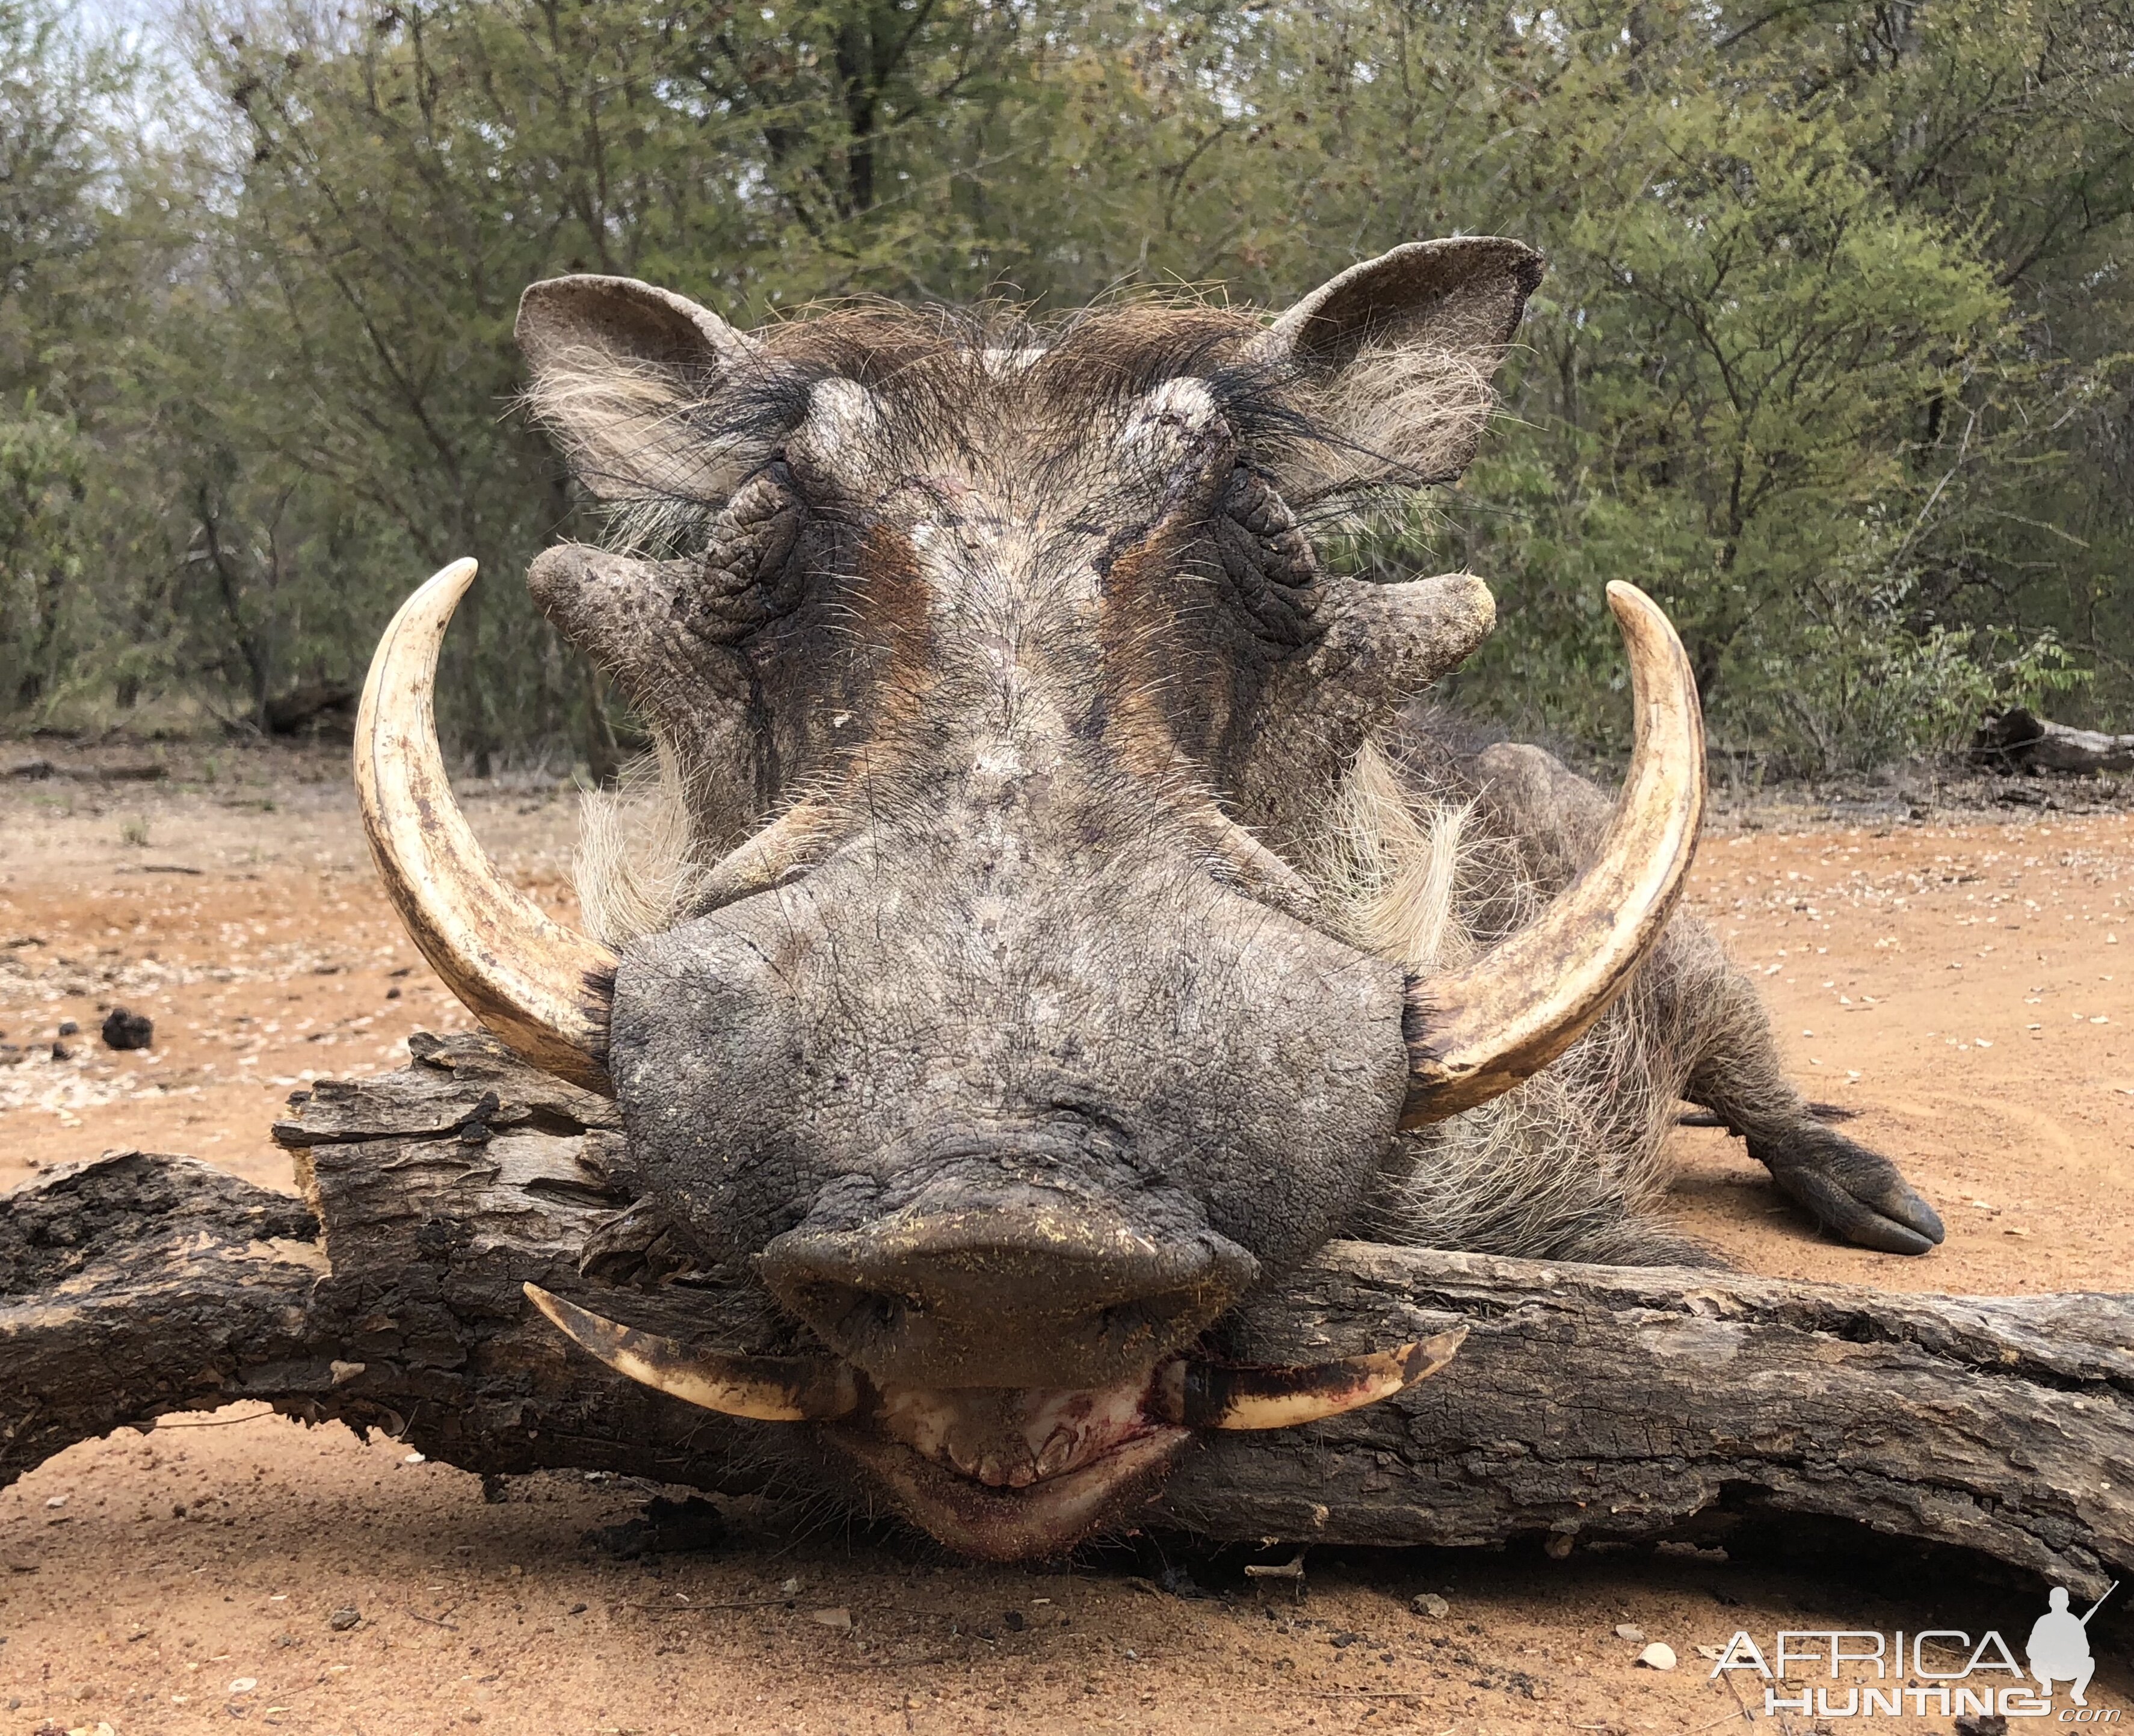
MULTIPOLYGON (((0 772, 34 753, 0 749, 0 772)), ((371 883, 337 755, 173 751, 171 768, 156 785, 0 778, 0 1043, 19 1051, 0 1049, 0 1186, 124 1145, 288 1186, 267 1124, 294 1086, 395 1066, 412 1030, 463 1022, 371 883), (156 1045, 105 1049, 111 1007, 152 1015, 156 1045)), ((570 793, 467 804, 568 915, 570 793)), ((1940 1205, 1948 1245, 1904 1260, 1822 1241, 1733 1141, 1684 1130, 1697 1235, 1795 1277, 2125 1288, 2134 819, 1748 810, 1707 840, 1692 902, 1763 977, 1810 1092, 1859 1111, 1848 1132, 1940 1205)), ((0 1493, 0 1736, 233 1719, 350 1736, 1699 1732, 1746 1721, 1694 1651, 1737 1627, 1765 1644, 1780 1627, 1997 1627, 2021 1651, 2038 1614, 2034 1587, 1895 1546, 1814 1568, 1321 1550, 1302 1604, 1261 1604, 1233 1557, 965 1568, 736 1504, 717 1548, 625 1561, 589 1533, 649 1491, 542 1476, 493 1493, 393 1442, 243 1408, 79 1446, 0 1493), (1165 1591, 1167 1565, 1212 1595, 1165 1591), (1411 1608, 1419 1593, 1447 1612, 1411 1608), (1618 1627, 1682 1666, 1637 1668, 1643 1640, 1618 1627)), ((2093 1706, 2130 1704, 2128 1631, 2098 1625, 2093 1706)), ((1761 1706, 1761 1683, 1733 1681, 1761 1706)), ((1778 1723, 1950 1727, 1925 1710, 1778 1723)))

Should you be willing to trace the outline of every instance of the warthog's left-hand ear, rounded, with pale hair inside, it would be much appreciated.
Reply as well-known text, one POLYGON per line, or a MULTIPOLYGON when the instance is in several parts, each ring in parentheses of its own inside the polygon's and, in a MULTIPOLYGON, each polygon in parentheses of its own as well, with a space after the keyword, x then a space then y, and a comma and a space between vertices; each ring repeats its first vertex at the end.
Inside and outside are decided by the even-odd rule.
POLYGON ((760 459, 762 345, 634 277, 551 277, 519 301, 527 401, 604 501, 708 505, 760 459))

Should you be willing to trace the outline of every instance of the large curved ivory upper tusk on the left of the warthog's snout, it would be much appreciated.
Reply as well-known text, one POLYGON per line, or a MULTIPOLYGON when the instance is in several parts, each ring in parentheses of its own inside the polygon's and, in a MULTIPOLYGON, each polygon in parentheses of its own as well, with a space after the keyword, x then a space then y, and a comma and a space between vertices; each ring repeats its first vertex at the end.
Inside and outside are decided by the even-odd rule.
POLYGON ((378 642, 356 710, 356 802, 386 898, 444 985, 521 1058, 612 1096, 615 953, 551 919, 497 874, 437 751, 437 646, 474 582, 452 561, 378 642))

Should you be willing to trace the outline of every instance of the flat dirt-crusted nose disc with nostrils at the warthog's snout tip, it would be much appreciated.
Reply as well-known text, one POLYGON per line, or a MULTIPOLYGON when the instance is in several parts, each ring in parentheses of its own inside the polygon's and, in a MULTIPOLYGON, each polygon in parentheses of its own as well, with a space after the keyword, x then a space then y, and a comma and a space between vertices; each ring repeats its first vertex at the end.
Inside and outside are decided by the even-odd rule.
POLYGON ((1103 1386, 1195 1337, 1259 1267, 1212 1231, 1144 1231, 1061 1196, 802 1224, 760 1271, 877 1380, 1103 1386))

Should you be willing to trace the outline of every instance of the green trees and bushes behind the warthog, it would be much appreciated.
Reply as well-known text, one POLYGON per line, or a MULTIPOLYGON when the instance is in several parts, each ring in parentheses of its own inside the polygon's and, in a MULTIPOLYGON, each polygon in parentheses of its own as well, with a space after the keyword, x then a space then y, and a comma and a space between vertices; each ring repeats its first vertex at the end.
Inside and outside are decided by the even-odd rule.
POLYGON ((474 552, 450 732, 608 770, 508 582, 585 529, 536 277, 1280 305, 1451 232, 1549 277, 1353 559, 1492 582, 1466 704, 1613 746, 1622 576, 1778 770, 2134 727, 2134 0, 0 0, 0 723, 256 725, 474 552))

